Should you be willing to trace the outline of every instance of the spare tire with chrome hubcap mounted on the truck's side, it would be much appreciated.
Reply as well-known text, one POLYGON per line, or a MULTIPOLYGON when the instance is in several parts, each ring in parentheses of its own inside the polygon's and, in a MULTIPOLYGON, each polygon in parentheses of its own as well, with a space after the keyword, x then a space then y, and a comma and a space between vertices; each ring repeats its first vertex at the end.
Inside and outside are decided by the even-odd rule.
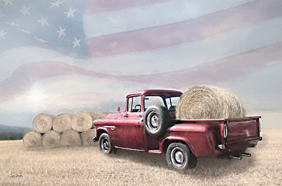
POLYGON ((153 105, 146 109, 144 114, 144 127, 150 136, 163 136, 171 123, 167 107, 163 105, 153 105))

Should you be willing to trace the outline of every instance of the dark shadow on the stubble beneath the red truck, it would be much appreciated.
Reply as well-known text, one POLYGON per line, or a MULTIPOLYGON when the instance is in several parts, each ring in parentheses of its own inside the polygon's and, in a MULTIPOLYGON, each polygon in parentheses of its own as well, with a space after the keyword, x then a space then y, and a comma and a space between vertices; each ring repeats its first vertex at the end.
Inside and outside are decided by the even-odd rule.
MULTIPOLYGON (((148 152, 138 152, 118 149, 113 158, 119 158, 151 166, 152 168, 164 168, 175 171, 167 165, 166 154, 152 154, 148 152)), ((197 165, 193 169, 184 171, 175 171, 180 174, 189 174, 190 176, 217 177, 228 174, 240 174, 255 165, 255 158, 242 157, 242 159, 231 158, 198 158, 197 165)))

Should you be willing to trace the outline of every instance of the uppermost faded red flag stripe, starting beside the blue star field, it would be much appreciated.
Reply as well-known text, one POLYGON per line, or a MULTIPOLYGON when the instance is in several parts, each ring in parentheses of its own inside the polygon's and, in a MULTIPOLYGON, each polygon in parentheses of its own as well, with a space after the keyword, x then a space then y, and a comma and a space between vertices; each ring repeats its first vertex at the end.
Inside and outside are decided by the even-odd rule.
POLYGON ((254 1, 175 24, 89 38, 94 58, 171 47, 282 16, 279 1, 254 1))

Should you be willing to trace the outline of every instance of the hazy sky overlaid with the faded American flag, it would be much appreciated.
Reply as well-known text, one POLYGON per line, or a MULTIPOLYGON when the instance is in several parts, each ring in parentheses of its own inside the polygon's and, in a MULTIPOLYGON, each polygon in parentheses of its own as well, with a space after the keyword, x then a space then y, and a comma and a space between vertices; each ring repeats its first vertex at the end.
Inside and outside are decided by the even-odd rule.
POLYGON ((0 124, 226 88, 282 129, 282 0, 0 0, 0 124))

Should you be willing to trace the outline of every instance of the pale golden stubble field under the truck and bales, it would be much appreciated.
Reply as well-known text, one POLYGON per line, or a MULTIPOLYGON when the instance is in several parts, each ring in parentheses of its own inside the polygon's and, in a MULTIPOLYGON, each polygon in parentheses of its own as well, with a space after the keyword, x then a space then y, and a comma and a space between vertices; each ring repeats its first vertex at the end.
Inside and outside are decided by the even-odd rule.
POLYGON ((196 168, 177 172, 165 154, 98 147, 24 148, 0 141, 1 185, 282 185, 282 130, 262 131, 251 157, 198 158, 196 168))

